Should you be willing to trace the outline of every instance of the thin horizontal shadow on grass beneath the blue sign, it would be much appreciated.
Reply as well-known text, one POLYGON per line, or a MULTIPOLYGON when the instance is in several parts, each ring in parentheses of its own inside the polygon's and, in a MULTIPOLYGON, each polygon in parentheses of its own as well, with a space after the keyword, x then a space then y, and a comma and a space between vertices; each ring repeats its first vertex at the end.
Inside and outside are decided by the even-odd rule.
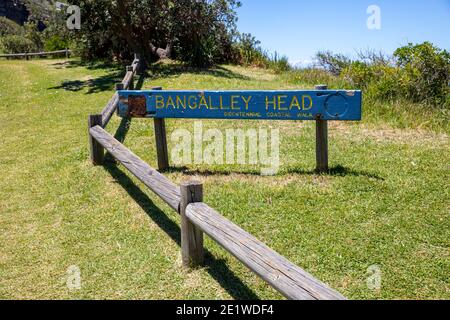
MULTIPOLYGON (((180 172, 187 176, 229 176, 232 174, 241 174, 241 175, 249 175, 249 176, 261 176, 260 170, 192 170, 188 167, 170 167, 165 170, 167 173, 180 172)), ((380 177, 374 173, 352 170, 343 166, 335 166, 328 170, 328 172, 318 173, 316 170, 304 170, 300 168, 289 168, 287 170, 281 171, 279 174, 275 176, 285 176, 287 174, 298 174, 298 175, 324 175, 324 176, 335 176, 335 177, 367 177, 377 180, 384 181, 383 177, 380 177)))

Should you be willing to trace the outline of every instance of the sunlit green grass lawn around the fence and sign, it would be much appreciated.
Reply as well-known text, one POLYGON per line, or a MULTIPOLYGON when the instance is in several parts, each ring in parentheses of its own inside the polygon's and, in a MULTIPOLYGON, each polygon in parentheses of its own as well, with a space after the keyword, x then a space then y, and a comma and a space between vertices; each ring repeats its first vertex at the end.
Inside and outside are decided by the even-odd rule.
MULTIPOLYGON (((143 88, 312 87, 242 67, 155 71, 143 88)), ((178 215, 122 166, 90 164, 87 116, 121 76, 76 60, 0 62, 0 298, 281 298, 210 239, 206 266, 184 270, 178 215), (79 290, 66 285, 71 266, 81 271, 79 290)), ((448 130, 420 126, 428 120, 414 111, 389 121, 389 105, 380 105, 364 105, 360 123, 330 124, 328 175, 314 173, 313 123, 255 121, 203 123, 279 128, 278 175, 245 165, 166 174, 176 183, 201 179, 207 204, 350 299, 448 299, 448 130), (380 290, 366 283, 373 265, 380 290)), ((193 123, 167 121, 169 149, 171 132, 193 123)), ((152 121, 115 116, 108 131, 118 128, 156 167, 152 121)))

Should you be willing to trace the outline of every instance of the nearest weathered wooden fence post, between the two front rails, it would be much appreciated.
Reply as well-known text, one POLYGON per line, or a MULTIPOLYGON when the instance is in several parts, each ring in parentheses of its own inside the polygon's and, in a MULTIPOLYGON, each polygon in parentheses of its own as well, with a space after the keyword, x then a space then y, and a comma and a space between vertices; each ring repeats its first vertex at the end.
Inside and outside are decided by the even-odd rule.
POLYGON ((190 203, 203 201, 203 184, 198 181, 181 183, 181 258, 184 267, 203 264, 203 231, 189 221, 186 208, 190 203))

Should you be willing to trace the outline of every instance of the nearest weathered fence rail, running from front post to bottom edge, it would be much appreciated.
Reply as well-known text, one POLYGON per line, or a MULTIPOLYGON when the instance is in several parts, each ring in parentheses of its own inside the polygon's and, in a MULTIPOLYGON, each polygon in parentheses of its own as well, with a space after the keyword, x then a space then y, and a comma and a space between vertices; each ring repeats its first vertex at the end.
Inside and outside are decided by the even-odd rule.
POLYGON ((294 300, 344 300, 345 297, 282 257, 204 203, 188 205, 186 216, 250 270, 294 300))

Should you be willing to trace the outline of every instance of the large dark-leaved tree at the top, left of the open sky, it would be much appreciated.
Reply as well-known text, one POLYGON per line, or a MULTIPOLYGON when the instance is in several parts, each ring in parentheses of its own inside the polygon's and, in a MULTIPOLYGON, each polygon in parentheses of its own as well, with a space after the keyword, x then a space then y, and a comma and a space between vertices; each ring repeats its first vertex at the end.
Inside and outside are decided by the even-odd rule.
POLYGON ((195 66, 231 55, 237 0, 75 0, 86 56, 147 62, 178 58, 195 66))

